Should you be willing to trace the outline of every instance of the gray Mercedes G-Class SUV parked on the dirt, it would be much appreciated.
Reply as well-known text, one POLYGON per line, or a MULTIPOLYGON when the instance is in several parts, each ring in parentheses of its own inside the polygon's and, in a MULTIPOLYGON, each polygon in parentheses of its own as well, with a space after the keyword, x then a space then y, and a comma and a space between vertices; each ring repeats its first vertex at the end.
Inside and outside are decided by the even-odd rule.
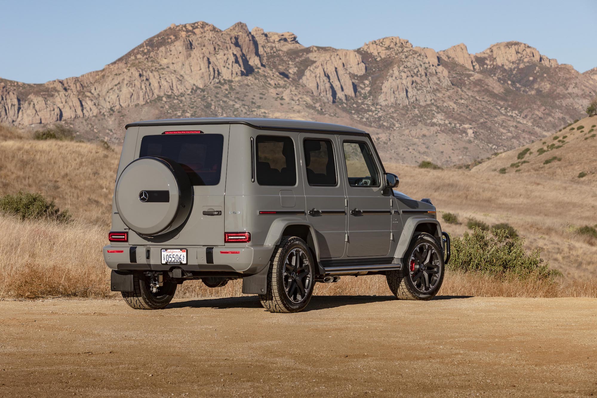
POLYGON ((126 128, 103 253, 131 307, 164 308, 198 279, 242 278, 275 313, 303 310, 316 282, 341 275, 386 275, 399 299, 438 292, 448 235, 430 200, 394 190, 365 131, 252 118, 126 128))

